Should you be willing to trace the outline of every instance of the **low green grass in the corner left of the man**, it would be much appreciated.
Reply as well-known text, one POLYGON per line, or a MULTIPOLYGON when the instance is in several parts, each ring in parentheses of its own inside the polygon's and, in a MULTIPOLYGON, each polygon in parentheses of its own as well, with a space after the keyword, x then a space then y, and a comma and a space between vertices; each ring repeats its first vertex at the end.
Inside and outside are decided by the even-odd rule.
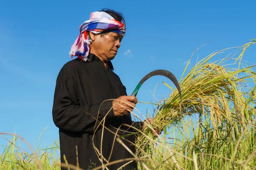
MULTIPOLYGON (((9 142, 0 155, 0 170, 60 170, 58 142, 49 145, 47 148, 36 147, 34 149, 20 136, 15 133, 0 133, 0 136, 9 142), (8 140, 4 135, 11 135, 8 140), (30 150, 22 150, 20 145, 26 143, 30 150)), ((40 137, 39 137, 40 138, 40 137)))

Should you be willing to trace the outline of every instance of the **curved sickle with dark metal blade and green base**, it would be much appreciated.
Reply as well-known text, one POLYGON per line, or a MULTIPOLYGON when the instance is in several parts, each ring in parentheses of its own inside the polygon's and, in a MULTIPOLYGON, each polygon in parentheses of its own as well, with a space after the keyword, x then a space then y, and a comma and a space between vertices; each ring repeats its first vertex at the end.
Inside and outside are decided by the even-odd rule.
POLYGON ((179 94, 180 94, 180 101, 182 101, 182 96, 181 96, 181 90, 180 90, 180 84, 178 82, 178 80, 176 79, 176 77, 170 72, 170 71, 167 71, 167 70, 155 70, 155 71, 151 71, 150 73, 148 73, 147 75, 145 75, 145 77, 143 77, 143 79, 140 80, 140 82, 138 83, 138 85, 136 86, 136 88, 134 89, 133 93, 131 94, 132 96, 137 96, 137 93, 141 87, 141 85, 147 80, 149 79, 150 77, 153 77, 153 76, 157 76, 157 75, 160 75, 160 76, 165 76, 167 78, 169 78, 173 83, 174 85, 176 86, 176 88, 178 89, 179 91, 179 94))

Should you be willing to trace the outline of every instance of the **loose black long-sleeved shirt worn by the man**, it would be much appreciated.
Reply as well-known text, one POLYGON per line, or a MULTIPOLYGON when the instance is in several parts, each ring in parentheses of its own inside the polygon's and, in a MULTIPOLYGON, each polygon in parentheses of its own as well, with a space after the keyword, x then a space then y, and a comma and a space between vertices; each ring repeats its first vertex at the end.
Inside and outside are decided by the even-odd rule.
MULTIPOLYGON (((107 62, 106 68, 94 54, 89 54, 88 59, 86 62, 73 59, 61 68, 56 81, 52 109, 53 121, 59 127, 61 162, 65 162, 63 157, 65 155, 69 164, 76 165, 77 146, 79 166, 84 170, 102 165, 93 143, 99 151, 102 150, 103 156, 109 159, 109 162, 132 157, 119 142, 114 142, 115 135, 109 130, 115 133, 116 128, 123 123, 136 127, 141 125, 132 122, 131 115, 119 118, 114 116, 111 109, 113 100, 108 99, 116 99, 127 94, 120 78, 113 72, 111 62, 107 62), (96 129, 95 125, 97 127, 105 116, 105 127, 109 130, 105 128, 103 130, 102 126, 96 129), (96 123, 96 119, 99 122, 96 123)), ((120 129, 119 135, 133 131, 126 126, 121 126, 120 129)), ((134 135, 125 138, 134 142, 134 135)), ((125 140, 122 141, 135 152, 133 145, 125 140)), ((108 168, 116 170, 122 164, 125 162, 113 164, 108 168)), ((125 166, 125 170, 136 168, 135 161, 125 166)))

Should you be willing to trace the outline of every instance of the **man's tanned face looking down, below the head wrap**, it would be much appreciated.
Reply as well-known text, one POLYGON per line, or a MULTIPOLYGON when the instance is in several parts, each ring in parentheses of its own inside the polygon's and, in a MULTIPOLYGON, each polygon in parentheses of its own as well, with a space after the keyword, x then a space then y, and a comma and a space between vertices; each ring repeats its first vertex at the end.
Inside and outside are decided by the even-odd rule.
POLYGON ((121 41, 122 36, 114 32, 103 35, 95 34, 95 40, 91 45, 91 53, 107 62, 116 56, 121 41))

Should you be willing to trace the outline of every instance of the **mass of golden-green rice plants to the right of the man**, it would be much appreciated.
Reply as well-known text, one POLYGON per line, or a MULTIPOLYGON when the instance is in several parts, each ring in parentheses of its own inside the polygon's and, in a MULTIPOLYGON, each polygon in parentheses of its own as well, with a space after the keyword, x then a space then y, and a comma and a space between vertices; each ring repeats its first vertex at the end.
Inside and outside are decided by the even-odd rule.
POLYGON ((144 162, 150 169, 256 166, 256 159, 252 159, 256 147, 256 86, 251 89, 246 84, 248 80, 256 84, 256 73, 252 70, 255 65, 241 64, 245 50, 254 43, 256 40, 243 45, 233 64, 227 64, 232 58, 229 56, 209 62, 227 49, 212 53, 180 80, 182 103, 177 89, 174 90, 157 111, 154 125, 146 127, 137 139, 137 156, 146 157, 144 162), (231 68, 234 65, 238 68, 231 68), (197 124, 189 127, 183 119, 193 115, 198 115, 197 124), (166 144, 165 136, 154 139, 153 129, 165 130, 166 134, 170 127, 176 130, 172 144, 166 144), (192 137, 184 130, 190 130, 192 137))

